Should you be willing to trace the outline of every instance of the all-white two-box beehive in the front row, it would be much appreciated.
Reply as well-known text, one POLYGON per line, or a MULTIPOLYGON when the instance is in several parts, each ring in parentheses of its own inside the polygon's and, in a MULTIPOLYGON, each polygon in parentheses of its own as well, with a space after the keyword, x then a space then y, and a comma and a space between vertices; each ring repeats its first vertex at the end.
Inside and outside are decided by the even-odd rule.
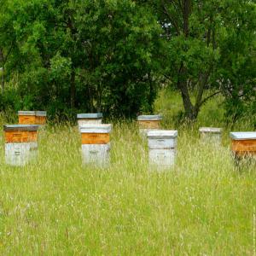
POLYGON ((149 166, 168 169, 175 164, 177 131, 148 131, 149 166))

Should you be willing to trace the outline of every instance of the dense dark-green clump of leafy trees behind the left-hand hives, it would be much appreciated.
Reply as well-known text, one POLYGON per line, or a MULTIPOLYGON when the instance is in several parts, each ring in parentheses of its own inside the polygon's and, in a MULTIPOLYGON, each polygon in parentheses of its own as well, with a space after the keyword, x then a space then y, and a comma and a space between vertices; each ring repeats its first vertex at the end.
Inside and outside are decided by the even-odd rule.
POLYGON ((24 108, 152 111, 160 26, 132 1, 4 1, 0 45, 24 108), (27 95, 29 94, 29 96, 27 95), (58 102, 59 105, 56 104, 58 102))

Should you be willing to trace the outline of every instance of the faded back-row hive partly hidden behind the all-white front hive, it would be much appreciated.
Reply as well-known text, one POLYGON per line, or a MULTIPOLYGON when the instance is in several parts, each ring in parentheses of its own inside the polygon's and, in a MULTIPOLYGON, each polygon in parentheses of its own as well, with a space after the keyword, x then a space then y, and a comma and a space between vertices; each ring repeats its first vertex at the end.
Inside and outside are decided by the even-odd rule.
POLYGON ((157 115, 139 115, 137 123, 139 125, 140 133, 147 135, 148 131, 160 129, 160 120, 162 117, 157 115))

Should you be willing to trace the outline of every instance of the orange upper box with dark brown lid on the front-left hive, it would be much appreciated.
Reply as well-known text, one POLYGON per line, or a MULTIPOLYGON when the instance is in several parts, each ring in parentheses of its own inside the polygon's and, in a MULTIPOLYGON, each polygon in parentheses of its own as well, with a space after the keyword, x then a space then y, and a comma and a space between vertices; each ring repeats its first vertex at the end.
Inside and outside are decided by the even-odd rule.
POLYGON ((5 143, 38 141, 38 125, 3 125, 5 143))

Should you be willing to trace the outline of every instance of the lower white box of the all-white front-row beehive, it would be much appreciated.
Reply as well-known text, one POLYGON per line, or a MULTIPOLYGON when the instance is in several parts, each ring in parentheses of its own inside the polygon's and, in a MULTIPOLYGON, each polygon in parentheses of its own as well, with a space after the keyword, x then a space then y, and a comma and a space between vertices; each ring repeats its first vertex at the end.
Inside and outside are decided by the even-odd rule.
POLYGON ((167 169, 175 164, 176 149, 149 149, 149 166, 157 169, 167 169))

